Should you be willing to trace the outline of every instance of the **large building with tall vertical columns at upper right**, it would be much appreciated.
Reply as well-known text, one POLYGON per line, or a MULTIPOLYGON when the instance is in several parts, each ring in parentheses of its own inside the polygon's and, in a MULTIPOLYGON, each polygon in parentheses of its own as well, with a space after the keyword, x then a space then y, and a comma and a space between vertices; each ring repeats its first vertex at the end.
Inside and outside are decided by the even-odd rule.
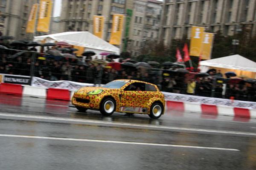
POLYGON ((242 27, 256 34, 256 0, 165 0, 159 41, 189 38, 192 26, 233 35, 242 27))

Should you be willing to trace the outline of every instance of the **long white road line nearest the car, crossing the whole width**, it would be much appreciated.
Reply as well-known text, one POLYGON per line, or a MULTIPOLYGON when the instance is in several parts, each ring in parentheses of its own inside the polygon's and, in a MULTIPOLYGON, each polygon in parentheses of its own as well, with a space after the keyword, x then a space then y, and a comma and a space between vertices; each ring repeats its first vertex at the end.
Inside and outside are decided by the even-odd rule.
POLYGON ((149 127, 149 128, 157 128, 157 129, 185 130, 185 131, 196 131, 196 132, 209 132, 209 133, 224 133, 224 134, 256 136, 256 133, 249 133, 249 132, 209 130, 209 129, 195 129, 195 128, 186 128, 186 127, 169 127, 169 126, 157 126, 157 125, 141 125, 141 124, 131 124, 131 123, 104 122, 104 121, 96 121, 96 120, 57 118, 57 117, 47 117, 47 116, 29 116, 29 115, 18 115, 18 114, 8 114, 8 113, 0 113, 0 116, 29 118, 29 119, 60 120, 60 121, 67 121, 67 122, 98 123, 98 124, 106 124, 106 125, 122 125, 122 126, 132 126, 132 127, 149 127))

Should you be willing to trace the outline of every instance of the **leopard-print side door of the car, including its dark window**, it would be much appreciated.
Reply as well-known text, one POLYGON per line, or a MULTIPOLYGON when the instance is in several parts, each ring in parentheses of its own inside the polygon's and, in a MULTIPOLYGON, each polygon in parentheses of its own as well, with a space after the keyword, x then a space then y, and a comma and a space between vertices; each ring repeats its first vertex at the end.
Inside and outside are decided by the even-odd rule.
POLYGON ((134 82, 123 91, 120 102, 120 110, 125 112, 143 112, 143 98, 145 96, 145 83, 134 82))

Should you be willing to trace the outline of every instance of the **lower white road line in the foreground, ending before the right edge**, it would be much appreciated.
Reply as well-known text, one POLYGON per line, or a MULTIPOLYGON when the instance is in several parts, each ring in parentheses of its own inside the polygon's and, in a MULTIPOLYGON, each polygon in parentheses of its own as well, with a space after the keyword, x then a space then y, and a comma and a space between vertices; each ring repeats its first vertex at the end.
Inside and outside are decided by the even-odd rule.
POLYGON ((115 144, 138 144, 138 145, 150 145, 150 146, 186 147, 186 148, 195 148, 195 149, 212 149, 212 150, 240 151, 238 149, 222 148, 222 147, 201 147, 201 146, 189 146, 189 145, 177 145, 177 144, 157 144, 157 143, 143 143, 143 142, 110 141, 110 140, 99 140, 99 139, 78 139, 78 138, 61 138, 61 137, 27 136, 27 135, 9 135, 9 134, 0 134, 0 137, 50 139, 50 140, 80 141, 80 142, 100 142, 100 143, 115 143, 115 144))

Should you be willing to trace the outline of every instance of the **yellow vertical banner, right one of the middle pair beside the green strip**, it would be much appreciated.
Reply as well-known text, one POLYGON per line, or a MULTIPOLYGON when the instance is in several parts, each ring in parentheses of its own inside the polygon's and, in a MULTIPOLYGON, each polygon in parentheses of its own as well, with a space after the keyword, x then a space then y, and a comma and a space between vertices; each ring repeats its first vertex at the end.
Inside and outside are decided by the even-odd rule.
POLYGON ((123 14, 113 14, 112 31, 109 43, 120 45, 122 39, 123 14))

